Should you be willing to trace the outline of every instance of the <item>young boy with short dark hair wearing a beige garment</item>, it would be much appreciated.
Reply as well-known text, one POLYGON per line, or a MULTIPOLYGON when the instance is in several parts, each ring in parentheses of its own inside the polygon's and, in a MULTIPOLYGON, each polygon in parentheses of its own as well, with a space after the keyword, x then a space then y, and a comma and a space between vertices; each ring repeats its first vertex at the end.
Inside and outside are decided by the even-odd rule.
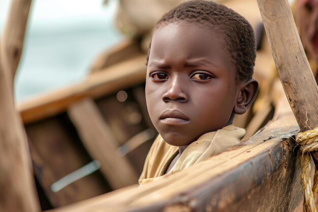
POLYGON ((232 122, 258 93, 251 78, 255 58, 250 24, 223 5, 186 2, 158 21, 147 59, 146 101, 160 135, 140 185, 240 143, 245 130, 232 122))

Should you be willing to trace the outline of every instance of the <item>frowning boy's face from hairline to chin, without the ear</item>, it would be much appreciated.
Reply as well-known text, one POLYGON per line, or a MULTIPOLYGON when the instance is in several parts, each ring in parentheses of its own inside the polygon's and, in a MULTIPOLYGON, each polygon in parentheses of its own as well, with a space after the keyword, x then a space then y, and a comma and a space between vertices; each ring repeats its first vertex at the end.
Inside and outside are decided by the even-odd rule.
POLYGON ((225 127, 239 94, 235 76, 225 42, 213 30, 184 21, 156 29, 146 101, 163 139, 184 146, 225 127))

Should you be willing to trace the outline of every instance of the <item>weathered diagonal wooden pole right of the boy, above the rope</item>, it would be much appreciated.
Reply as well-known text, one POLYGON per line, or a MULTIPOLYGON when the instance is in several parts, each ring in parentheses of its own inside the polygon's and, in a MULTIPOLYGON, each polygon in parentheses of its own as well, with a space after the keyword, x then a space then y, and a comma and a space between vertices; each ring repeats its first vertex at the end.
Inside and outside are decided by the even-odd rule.
MULTIPOLYGON (((318 127, 318 87, 287 0, 257 0, 272 55, 301 132, 318 127)), ((318 169, 318 153, 311 156, 318 169)))

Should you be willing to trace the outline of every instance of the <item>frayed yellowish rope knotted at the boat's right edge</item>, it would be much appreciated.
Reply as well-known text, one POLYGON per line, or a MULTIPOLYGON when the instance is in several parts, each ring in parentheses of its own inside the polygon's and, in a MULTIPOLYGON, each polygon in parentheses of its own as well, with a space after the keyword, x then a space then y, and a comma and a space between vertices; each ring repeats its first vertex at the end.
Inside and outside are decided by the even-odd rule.
MULTIPOLYGON (((296 143, 300 144, 300 167, 301 167, 301 185, 304 195, 304 211, 317 212, 314 197, 311 189, 311 158, 310 152, 318 150, 318 128, 301 132, 296 135, 296 143)), ((315 185, 316 187, 316 185, 315 185)), ((315 189, 314 189, 315 190, 315 189)))

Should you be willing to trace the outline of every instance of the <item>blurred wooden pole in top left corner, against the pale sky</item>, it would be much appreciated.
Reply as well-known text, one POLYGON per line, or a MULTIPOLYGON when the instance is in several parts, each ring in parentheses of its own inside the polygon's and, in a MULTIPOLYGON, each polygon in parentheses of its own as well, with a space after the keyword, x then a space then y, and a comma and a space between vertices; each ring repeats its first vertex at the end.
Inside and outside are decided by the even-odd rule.
POLYGON ((10 12, 1 36, 1 57, 3 68, 14 79, 23 48, 24 32, 31 0, 13 0, 10 12))

